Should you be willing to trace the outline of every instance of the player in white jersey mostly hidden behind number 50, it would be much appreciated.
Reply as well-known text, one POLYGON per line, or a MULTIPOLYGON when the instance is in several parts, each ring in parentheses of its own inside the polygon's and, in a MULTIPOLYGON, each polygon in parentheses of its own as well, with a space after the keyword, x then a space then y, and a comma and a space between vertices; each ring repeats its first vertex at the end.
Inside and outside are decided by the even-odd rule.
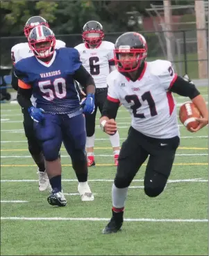
MULTIPOLYGON (((46 27, 49 27, 49 24, 47 20, 44 20, 43 17, 40 16, 33 16, 30 17, 30 19, 26 22, 26 25, 24 27, 24 34, 26 38, 28 38, 28 35, 35 26, 42 24, 46 27)), ((56 40, 56 49, 60 47, 65 47, 65 43, 61 40, 56 40)), ((28 42, 26 43, 18 43, 17 45, 14 45, 11 50, 11 57, 12 57, 12 63, 13 66, 15 66, 15 63, 20 61, 21 59, 28 58, 33 56, 33 50, 28 45, 28 42)), ((14 75, 14 67, 12 69, 12 87, 17 91, 18 88, 18 80, 17 77, 14 75)), ((35 105, 35 98, 31 98, 33 105, 35 105)), ((44 157, 40 148, 40 144, 37 142, 37 139, 35 137, 35 133, 33 131, 33 120, 31 119, 31 116, 28 114, 28 111, 26 109, 22 109, 22 114, 24 117, 23 125, 24 125, 24 131, 26 138, 28 140, 28 150, 31 153, 31 156, 33 160, 35 161, 38 169, 37 173, 39 174, 39 190, 44 191, 49 186, 49 179, 47 176, 47 172, 45 171, 44 167, 44 157)))

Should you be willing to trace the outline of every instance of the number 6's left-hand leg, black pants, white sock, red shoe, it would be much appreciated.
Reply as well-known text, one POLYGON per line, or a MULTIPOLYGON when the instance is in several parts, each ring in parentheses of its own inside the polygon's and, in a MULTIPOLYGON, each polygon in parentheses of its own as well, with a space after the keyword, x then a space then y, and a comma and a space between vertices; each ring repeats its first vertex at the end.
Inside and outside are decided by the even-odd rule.
POLYGON ((95 96, 95 109, 93 114, 85 114, 85 129, 86 129, 86 153, 87 153, 87 166, 94 166, 94 133, 95 133, 95 120, 97 115, 97 95, 95 96))

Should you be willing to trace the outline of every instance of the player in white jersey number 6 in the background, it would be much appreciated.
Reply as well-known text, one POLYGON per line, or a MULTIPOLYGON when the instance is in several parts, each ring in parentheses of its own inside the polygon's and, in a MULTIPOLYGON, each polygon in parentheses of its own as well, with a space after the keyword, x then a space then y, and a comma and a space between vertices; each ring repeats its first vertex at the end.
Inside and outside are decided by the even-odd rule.
MULTIPOLYGON (((113 50, 115 45, 108 41, 103 41, 104 33, 103 27, 99 22, 90 21, 83 26, 83 40, 84 43, 77 45, 81 61, 85 69, 92 75, 96 84, 95 93, 95 110, 93 114, 85 115, 85 126, 87 132, 87 160, 88 166, 95 165, 94 161, 94 133, 95 133, 95 119, 97 108, 101 112, 106 101, 108 88, 106 79, 108 74, 115 70, 115 61, 113 50)), ((110 135, 110 142, 114 152, 115 165, 119 156, 119 133, 110 135)))

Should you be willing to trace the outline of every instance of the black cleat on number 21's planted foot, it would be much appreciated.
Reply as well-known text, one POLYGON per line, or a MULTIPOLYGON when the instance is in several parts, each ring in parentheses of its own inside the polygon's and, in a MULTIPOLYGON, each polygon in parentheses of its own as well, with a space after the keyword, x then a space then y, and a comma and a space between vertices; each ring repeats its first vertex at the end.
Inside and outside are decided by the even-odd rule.
POLYGON ((103 229, 102 234, 112 234, 121 231, 124 222, 124 212, 115 213, 112 211, 112 218, 106 227, 103 229))

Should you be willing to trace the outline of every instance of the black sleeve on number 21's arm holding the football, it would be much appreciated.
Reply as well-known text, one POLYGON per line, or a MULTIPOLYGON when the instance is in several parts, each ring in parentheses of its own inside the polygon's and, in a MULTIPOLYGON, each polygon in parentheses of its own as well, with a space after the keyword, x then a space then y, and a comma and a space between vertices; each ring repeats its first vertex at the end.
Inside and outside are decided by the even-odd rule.
POLYGON ((176 81, 169 91, 177 93, 181 96, 189 97, 191 100, 200 94, 194 84, 183 80, 183 78, 179 76, 176 78, 176 81))

